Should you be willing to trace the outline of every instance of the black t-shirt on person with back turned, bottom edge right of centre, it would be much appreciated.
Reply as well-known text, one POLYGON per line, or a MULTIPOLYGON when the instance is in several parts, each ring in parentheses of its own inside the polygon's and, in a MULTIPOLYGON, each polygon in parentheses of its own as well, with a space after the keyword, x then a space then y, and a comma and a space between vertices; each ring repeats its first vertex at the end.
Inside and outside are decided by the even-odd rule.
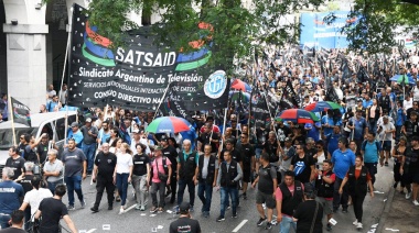
MULTIPOLYGON (((322 233, 323 232, 323 207, 321 203, 318 204, 318 214, 315 217, 314 221, 314 228, 313 233, 322 233)), ((304 202, 301 202, 294 212, 293 218, 298 219, 297 222, 297 231, 296 233, 307 233, 310 232, 311 225, 313 223, 314 213, 316 209, 316 201, 315 200, 308 200, 304 202)))

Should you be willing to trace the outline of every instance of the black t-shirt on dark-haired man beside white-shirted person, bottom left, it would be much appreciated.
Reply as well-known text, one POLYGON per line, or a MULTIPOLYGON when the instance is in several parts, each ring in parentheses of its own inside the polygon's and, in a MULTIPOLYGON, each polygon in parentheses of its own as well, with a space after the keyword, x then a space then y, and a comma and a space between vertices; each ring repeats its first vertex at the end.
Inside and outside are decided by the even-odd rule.
POLYGON ((39 210, 42 212, 40 232, 60 232, 60 220, 62 217, 68 214, 65 204, 55 198, 45 198, 41 201, 39 210))

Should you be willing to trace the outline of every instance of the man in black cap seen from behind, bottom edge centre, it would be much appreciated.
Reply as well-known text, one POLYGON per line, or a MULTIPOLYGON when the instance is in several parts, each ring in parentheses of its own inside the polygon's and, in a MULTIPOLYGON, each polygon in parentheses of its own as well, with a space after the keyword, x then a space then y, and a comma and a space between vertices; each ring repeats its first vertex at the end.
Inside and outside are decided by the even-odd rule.
POLYGON ((181 215, 178 220, 170 223, 169 232, 170 233, 201 233, 201 225, 197 220, 191 219, 190 214, 190 204, 187 202, 182 202, 179 207, 181 215))

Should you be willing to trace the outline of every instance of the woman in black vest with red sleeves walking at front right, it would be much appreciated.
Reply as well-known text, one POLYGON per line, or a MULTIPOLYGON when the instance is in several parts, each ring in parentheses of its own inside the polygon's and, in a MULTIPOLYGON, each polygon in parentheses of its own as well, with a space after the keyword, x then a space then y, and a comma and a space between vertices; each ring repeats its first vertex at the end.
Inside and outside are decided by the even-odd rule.
POLYGON ((355 166, 350 167, 350 170, 347 171, 339 189, 339 193, 342 193, 343 187, 347 182, 352 198, 352 206, 354 207, 356 218, 353 224, 357 230, 363 229, 363 203, 367 193, 367 186, 369 187, 370 197, 374 198, 372 177, 368 173, 368 168, 363 166, 363 162, 364 159, 362 156, 356 156, 355 166))

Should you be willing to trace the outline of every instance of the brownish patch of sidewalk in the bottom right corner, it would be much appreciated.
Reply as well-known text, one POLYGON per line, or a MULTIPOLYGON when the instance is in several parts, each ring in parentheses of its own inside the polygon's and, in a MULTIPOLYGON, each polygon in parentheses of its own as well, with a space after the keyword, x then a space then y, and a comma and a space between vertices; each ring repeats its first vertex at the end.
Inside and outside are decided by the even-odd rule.
POLYGON ((391 187, 377 232, 419 232, 419 207, 391 187))

